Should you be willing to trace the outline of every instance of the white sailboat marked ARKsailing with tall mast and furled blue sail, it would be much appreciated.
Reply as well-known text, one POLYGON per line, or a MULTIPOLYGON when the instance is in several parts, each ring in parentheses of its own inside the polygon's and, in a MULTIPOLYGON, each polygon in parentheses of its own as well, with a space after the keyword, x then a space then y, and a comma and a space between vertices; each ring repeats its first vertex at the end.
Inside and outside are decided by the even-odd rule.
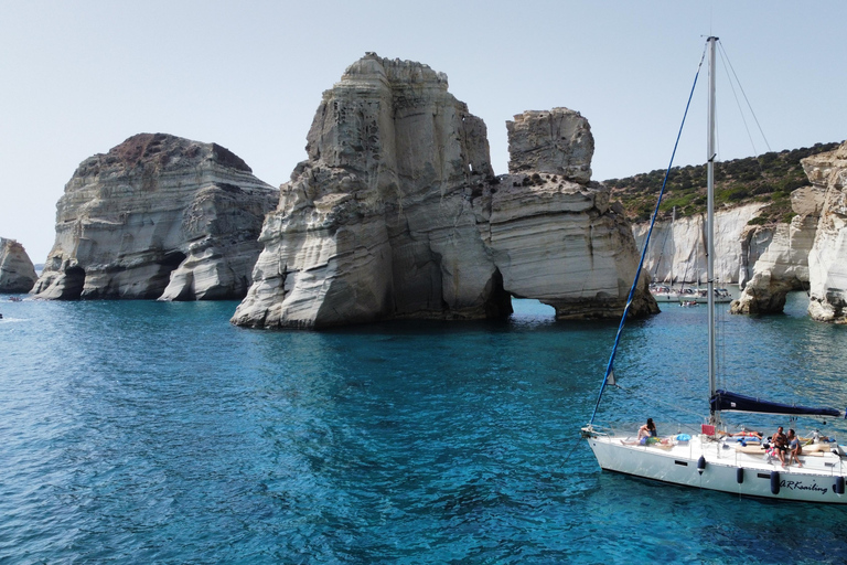
MULTIPOLYGON (((715 47, 718 39, 707 39, 709 61, 709 103, 707 139, 707 271, 708 271, 708 380, 709 415, 690 434, 669 437, 645 437, 640 440, 633 429, 617 434, 594 425, 603 391, 614 381, 614 352, 620 342, 626 311, 619 326, 612 355, 598 395, 591 420, 582 428, 598 463, 603 470, 644 479, 733 494, 778 499, 847 504, 845 477, 847 456, 843 446, 826 438, 817 438, 804 446, 800 463, 791 465, 785 455, 783 465, 778 454, 769 449, 766 438, 741 431, 730 435, 721 420, 722 412, 759 413, 771 415, 841 417, 834 408, 804 407, 762 401, 717 388, 714 306, 714 160, 715 152, 715 47), (802 465, 802 467, 801 467, 802 465)), ((699 74, 699 71, 698 71, 699 74)), ((696 79, 695 79, 696 85, 696 79)), ((690 102, 690 98, 689 98, 690 102)), ((686 109, 687 111, 687 109, 686 109)), ((678 141, 678 138, 677 138, 678 141)), ((673 162, 673 161, 672 161, 673 162)), ((645 241, 650 242, 650 234, 645 241)), ((643 260, 643 256, 642 256, 643 260)), ((637 269, 641 271, 641 266, 637 269)), ((636 280, 637 282, 637 274, 636 280)), ((630 300, 634 294, 630 292, 630 300)))

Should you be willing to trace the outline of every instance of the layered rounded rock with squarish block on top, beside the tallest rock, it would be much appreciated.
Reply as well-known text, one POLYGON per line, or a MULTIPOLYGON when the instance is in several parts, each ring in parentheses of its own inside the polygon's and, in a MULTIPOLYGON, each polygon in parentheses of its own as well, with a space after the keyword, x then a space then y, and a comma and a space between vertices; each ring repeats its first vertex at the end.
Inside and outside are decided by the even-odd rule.
MULTIPOLYGON (((536 298, 556 317, 615 318, 621 315, 639 252, 620 205, 609 190, 590 182, 594 141, 579 113, 567 108, 525 111, 506 122, 511 174, 491 200, 474 201, 485 245, 514 296, 536 298), (522 171, 522 172, 518 172, 522 171)), ((658 308, 647 277, 633 300, 637 316, 658 308)))

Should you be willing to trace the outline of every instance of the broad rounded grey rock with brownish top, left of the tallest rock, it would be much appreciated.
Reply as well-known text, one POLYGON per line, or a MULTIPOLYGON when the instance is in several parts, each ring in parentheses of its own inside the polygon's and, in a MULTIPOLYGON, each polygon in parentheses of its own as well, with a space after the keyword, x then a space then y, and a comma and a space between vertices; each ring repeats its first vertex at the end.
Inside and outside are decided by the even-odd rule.
POLYGON ((278 192, 216 143, 140 134, 83 161, 56 205, 43 298, 243 297, 278 192))

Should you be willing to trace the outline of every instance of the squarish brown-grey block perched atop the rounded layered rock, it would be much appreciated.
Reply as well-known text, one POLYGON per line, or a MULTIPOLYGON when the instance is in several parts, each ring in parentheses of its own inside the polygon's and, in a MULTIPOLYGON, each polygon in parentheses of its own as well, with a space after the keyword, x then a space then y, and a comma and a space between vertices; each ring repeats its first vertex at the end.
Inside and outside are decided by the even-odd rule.
POLYGON ((594 138, 580 113, 568 108, 527 110, 506 121, 506 129, 508 172, 560 174, 581 184, 591 180, 594 138))

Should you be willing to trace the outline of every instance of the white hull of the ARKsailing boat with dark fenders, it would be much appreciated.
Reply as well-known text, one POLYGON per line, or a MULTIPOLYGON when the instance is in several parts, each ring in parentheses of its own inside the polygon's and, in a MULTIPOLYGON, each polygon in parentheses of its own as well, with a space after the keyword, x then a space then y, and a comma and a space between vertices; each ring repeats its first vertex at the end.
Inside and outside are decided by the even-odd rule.
POLYGON ((588 438, 597 461, 608 471, 747 497, 847 504, 847 494, 835 492, 838 478, 844 481, 847 471, 837 454, 807 455, 802 468, 783 468, 779 459, 769 461, 764 454, 746 454, 737 450, 732 441, 711 440, 707 436, 694 436, 687 444, 666 447, 624 441, 632 438, 588 438), (705 460, 701 472, 700 457, 705 460))

